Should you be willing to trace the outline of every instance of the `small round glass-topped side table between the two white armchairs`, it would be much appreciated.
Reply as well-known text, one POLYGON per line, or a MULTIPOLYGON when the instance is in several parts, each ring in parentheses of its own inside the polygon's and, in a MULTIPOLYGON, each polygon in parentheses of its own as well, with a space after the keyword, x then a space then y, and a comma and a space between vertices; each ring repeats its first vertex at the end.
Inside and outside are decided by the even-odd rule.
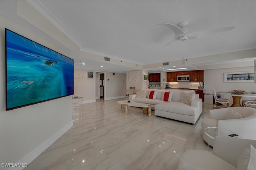
POLYGON ((217 128, 217 127, 207 127, 204 129, 205 134, 208 136, 208 144, 210 146, 213 145, 214 138, 216 136, 229 136, 232 138, 241 138, 238 134, 235 132, 232 132, 230 130, 224 129, 224 128, 217 128))

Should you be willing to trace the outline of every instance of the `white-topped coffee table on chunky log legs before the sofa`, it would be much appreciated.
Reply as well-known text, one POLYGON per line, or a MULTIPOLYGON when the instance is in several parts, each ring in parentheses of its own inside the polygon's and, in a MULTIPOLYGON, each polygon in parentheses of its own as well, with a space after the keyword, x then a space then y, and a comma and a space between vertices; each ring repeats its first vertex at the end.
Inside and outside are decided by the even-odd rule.
POLYGON ((142 107, 143 113, 148 114, 148 116, 151 116, 151 109, 152 109, 153 105, 148 105, 146 103, 137 103, 134 101, 131 101, 129 103, 127 100, 121 100, 121 101, 118 101, 117 103, 121 104, 121 108, 124 109, 125 115, 127 115, 127 113, 128 113, 128 106, 132 106, 132 107, 142 107))

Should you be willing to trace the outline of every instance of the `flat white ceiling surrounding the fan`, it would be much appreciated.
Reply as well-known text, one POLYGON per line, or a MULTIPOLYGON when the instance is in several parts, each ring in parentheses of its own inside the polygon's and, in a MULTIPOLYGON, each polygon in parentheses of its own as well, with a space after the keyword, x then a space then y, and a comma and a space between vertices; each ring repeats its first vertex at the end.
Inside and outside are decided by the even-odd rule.
MULTIPOLYGON (((80 45, 82 51, 140 65, 256 48, 256 1, 40 0, 36 3, 30 2, 37 8, 40 4, 39 12, 80 45), (174 33, 157 24, 178 25, 182 21, 189 22, 188 32, 236 28, 196 40, 176 41, 164 48, 174 33)), ((112 72, 132 69, 81 57, 75 60, 77 68, 112 72), (87 65, 80 67, 81 61, 87 65)))

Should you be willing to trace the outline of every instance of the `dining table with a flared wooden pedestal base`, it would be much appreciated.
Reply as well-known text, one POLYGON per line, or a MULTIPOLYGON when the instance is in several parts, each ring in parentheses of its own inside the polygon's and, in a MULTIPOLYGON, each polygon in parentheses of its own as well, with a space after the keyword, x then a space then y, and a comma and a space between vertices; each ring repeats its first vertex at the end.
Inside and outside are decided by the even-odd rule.
POLYGON ((243 93, 243 94, 234 94, 234 93, 219 93, 222 95, 222 98, 229 99, 228 96, 231 96, 233 99, 233 104, 230 107, 241 107, 241 98, 242 97, 249 97, 252 99, 256 99, 256 94, 253 93, 243 93))

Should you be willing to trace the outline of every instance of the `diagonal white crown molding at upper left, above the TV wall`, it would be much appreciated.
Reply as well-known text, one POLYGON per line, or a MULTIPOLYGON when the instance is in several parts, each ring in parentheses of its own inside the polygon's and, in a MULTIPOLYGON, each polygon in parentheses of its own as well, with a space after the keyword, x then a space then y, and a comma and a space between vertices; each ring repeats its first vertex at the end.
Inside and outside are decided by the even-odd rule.
POLYGON ((56 26, 63 34, 65 34, 70 40, 72 40, 79 47, 82 43, 56 18, 48 11, 42 3, 38 0, 26 0, 32 7, 34 7, 40 14, 42 14, 47 20, 49 20, 54 26, 56 26))

